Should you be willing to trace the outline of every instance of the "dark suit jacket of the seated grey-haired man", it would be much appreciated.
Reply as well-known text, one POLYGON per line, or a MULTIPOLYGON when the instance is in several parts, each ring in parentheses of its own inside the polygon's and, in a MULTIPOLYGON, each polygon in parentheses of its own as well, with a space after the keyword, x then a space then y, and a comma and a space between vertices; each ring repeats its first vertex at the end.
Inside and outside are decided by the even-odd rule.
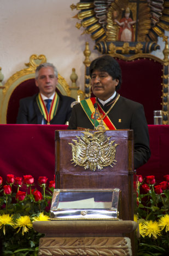
MULTIPOLYGON (((42 124, 43 115, 39 110, 36 97, 37 94, 34 94, 32 97, 20 100, 17 124, 42 124)), ((50 124, 65 124, 71 116, 71 103, 75 101, 75 99, 63 96, 62 94, 59 94, 59 98, 56 115, 50 121, 50 124)))

